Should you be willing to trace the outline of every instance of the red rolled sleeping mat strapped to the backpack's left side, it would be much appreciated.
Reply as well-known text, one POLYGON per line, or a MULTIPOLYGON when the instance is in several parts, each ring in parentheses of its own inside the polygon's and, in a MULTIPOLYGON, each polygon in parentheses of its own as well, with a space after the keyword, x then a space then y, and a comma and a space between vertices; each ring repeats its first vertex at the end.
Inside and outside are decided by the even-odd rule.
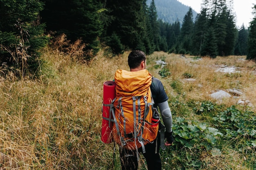
POLYGON ((103 83, 103 106, 102 106, 102 126, 101 126, 101 141, 105 144, 112 142, 110 136, 113 122, 112 114, 110 113, 110 104, 116 96, 116 83, 107 81, 103 83))

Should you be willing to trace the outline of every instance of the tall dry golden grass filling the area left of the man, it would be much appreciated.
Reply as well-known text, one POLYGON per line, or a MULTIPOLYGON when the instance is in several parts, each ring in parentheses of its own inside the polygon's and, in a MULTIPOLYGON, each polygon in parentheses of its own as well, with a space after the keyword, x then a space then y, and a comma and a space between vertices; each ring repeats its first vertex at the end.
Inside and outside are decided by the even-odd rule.
POLYGON ((1 77, 0 169, 109 169, 102 89, 124 57, 99 53, 87 66, 71 54, 46 48, 38 79, 1 77))

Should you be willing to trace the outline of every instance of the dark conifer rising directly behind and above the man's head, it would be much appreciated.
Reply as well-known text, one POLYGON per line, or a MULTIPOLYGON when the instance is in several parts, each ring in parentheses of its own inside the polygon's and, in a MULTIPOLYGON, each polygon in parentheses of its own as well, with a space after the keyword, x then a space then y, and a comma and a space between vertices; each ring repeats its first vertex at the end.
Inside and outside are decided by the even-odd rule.
POLYGON ((107 35, 115 32, 128 49, 146 51, 143 2, 144 0, 108 0, 106 3, 106 7, 111 10, 110 15, 115 18, 106 28, 107 35))

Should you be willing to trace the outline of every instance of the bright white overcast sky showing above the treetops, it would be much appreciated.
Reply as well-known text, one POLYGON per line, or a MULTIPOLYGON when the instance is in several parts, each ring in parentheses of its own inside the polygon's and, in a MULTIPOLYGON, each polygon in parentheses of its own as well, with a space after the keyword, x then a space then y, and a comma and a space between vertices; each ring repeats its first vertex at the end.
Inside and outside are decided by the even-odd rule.
MULTIPOLYGON (((178 0, 192 9, 197 13, 200 13, 201 4, 203 0, 178 0)), ((234 0, 234 11, 236 13, 236 25, 238 28, 244 23, 245 27, 249 26, 249 22, 252 21, 252 7, 256 4, 256 0, 234 0)))

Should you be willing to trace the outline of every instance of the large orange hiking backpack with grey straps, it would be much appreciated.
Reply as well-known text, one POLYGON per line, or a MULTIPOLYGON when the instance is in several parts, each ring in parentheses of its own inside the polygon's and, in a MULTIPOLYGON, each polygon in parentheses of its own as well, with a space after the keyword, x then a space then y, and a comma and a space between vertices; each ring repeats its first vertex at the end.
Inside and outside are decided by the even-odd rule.
POLYGON ((113 139, 130 150, 138 150, 157 137, 159 114, 153 108, 150 91, 152 75, 146 70, 117 70, 115 73, 116 97, 110 107, 114 125, 113 139), (153 123, 152 116, 157 114, 153 123))

